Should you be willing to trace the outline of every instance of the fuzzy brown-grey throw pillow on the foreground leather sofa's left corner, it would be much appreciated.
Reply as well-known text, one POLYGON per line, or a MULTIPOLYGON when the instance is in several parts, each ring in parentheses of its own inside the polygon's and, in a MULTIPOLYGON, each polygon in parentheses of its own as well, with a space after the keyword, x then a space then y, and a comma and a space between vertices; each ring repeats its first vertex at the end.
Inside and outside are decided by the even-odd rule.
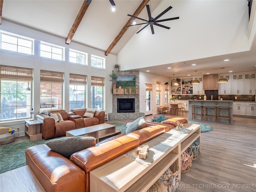
POLYGON ((73 153, 95 146, 96 139, 94 137, 84 136, 63 137, 47 141, 45 144, 51 150, 69 159, 73 153))

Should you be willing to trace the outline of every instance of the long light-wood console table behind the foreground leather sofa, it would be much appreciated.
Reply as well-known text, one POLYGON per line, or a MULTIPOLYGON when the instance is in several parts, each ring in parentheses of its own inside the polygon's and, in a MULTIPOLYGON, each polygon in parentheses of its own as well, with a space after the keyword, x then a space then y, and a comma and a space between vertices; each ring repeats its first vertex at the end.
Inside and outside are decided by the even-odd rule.
POLYGON ((174 162, 180 167, 181 154, 196 139, 200 143, 200 125, 186 124, 185 127, 191 132, 180 133, 172 129, 144 143, 150 146, 148 158, 152 158, 156 151, 167 148, 161 156, 154 158, 154 161, 149 164, 128 157, 128 154, 136 156, 137 148, 135 148, 90 171, 90 191, 139 192, 148 190, 174 162))

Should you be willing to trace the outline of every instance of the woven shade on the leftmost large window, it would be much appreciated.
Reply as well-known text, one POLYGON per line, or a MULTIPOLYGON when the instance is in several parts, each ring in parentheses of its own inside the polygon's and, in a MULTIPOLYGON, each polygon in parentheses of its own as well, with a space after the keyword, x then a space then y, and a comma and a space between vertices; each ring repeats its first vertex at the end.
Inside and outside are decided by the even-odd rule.
POLYGON ((0 66, 1 80, 18 80, 18 81, 32 81, 33 69, 12 67, 12 66, 0 66))

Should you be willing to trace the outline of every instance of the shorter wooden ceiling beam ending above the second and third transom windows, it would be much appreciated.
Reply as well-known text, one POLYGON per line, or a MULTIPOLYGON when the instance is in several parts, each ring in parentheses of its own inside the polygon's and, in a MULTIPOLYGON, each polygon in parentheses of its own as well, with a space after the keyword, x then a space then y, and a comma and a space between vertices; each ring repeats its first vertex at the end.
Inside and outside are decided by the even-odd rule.
POLYGON ((85 12, 87 11, 87 8, 90 5, 90 0, 84 0, 84 3, 82 4, 82 7, 80 8, 80 11, 78 12, 76 19, 68 32, 68 36, 66 37, 66 44, 70 44, 82 18, 84 17, 85 12))

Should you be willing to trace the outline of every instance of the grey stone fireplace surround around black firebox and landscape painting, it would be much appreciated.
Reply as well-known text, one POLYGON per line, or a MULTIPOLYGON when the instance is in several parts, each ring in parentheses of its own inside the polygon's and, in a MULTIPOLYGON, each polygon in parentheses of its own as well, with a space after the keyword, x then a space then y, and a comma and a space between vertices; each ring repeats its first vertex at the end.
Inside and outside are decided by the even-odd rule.
MULTIPOLYGON (((119 71, 116 75, 135 75, 136 85, 139 86, 139 71, 119 71)), ((140 94, 113 94, 112 104, 112 113, 108 114, 110 120, 137 119, 145 116, 144 113, 140 113, 140 94)))

